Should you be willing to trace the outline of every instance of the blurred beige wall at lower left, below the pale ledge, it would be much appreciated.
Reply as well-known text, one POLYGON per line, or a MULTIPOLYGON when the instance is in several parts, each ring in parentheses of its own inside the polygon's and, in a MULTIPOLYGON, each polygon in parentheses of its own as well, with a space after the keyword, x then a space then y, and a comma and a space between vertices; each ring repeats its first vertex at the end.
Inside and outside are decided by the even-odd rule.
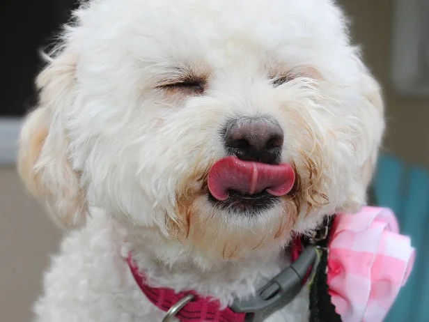
POLYGON ((0 168, 0 321, 27 322, 59 229, 24 194, 15 169, 0 168))

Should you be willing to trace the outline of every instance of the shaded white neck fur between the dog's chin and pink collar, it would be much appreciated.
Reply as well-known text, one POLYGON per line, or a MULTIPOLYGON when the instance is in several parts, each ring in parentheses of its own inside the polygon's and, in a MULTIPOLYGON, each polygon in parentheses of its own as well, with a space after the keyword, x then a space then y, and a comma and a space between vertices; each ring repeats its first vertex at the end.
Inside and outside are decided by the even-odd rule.
POLYGON ((193 290, 219 298, 223 305, 249 296, 288 265, 280 247, 236 261, 209 260, 195 247, 164 238, 155 229, 121 226, 126 240, 123 256, 132 255, 151 285, 193 290))

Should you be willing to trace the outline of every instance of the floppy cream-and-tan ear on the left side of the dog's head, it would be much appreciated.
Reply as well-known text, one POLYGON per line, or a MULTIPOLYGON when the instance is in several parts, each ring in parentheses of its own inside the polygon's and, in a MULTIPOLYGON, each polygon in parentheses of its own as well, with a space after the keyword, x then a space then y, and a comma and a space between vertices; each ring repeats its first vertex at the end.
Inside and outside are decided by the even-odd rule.
POLYGON ((36 82, 39 104, 24 121, 18 153, 26 186, 65 228, 84 224, 86 217, 86 199, 68 159, 64 125, 75 100, 75 69, 75 55, 63 52, 42 70, 36 82))

